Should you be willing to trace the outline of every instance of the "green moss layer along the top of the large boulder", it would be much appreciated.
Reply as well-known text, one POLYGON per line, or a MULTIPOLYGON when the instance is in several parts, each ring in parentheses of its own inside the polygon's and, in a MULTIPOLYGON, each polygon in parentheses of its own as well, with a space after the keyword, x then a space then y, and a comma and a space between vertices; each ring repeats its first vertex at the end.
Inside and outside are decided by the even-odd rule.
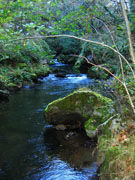
MULTIPOLYGON (((52 105, 57 105, 57 107, 62 108, 63 111, 69 109, 74 110, 74 108, 81 108, 82 104, 99 104, 99 105, 110 105, 112 103, 112 100, 103 97, 102 95, 90 91, 90 89, 82 88, 77 91, 74 91, 73 93, 69 94, 68 96, 64 98, 60 98, 58 100, 55 100, 51 102, 45 111, 49 111, 50 107, 52 105), (76 102, 76 103, 75 103, 76 102)), ((97 104, 97 105, 98 105, 97 104)), ((105 111, 105 110, 104 110, 105 111)))

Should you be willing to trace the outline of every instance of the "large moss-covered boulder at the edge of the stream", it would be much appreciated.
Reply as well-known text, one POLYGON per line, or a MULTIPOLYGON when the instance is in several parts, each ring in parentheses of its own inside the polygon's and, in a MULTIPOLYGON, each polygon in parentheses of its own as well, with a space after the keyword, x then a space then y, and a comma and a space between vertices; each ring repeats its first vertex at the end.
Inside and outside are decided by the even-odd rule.
POLYGON ((45 109, 49 124, 85 128, 89 137, 112 115, 112 100, 90 89, 79 89, 50 103, 45 109))

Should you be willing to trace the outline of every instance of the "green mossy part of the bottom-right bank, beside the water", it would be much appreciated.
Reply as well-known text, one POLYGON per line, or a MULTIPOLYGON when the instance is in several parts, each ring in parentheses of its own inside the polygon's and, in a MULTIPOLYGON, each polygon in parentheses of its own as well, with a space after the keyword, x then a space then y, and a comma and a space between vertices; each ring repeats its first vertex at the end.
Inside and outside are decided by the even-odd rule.
MULTIPOLYGON (((128 155, 128 149, 118 143, 117 146, 113 146, 116 140, 107 134, 106 136, 100 136, 98 139, 98 162, 99 164, 101 163, 100 174, 103 179, 115 179, 119 176, 119 171, 122 171, 122 161, 126 164, 125 159, 128 155), (103 159, 103 162, 101 162, 101 159, 103 159), (118 164, 121 164, 121 166, 118 164)), ((123 178, 121 177, 120 179, 123 178)))

